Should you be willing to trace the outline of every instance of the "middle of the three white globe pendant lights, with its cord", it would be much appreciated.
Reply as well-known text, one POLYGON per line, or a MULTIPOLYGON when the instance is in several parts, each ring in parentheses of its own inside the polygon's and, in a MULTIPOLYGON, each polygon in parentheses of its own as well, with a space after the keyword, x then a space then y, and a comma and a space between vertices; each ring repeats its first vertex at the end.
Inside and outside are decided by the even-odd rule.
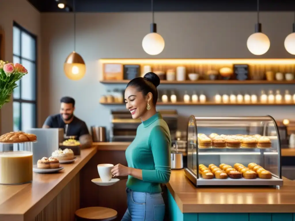
POLYGON ((257 24, 255 24, 255 33, 248 37, 247 47, 253 55, 263 55, 270 46, 271 42, 267 35, 262 33, 261 23, 259 23, 259 0, 257 0, 257 24))

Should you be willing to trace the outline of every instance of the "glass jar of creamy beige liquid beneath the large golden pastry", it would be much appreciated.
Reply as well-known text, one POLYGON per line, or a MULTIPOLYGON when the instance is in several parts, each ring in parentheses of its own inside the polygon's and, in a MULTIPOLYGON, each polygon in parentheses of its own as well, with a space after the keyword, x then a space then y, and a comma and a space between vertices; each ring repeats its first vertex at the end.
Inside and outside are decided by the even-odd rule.
POLYGON ((32 143, 0 143, 0 184, 32 182, 32 143))

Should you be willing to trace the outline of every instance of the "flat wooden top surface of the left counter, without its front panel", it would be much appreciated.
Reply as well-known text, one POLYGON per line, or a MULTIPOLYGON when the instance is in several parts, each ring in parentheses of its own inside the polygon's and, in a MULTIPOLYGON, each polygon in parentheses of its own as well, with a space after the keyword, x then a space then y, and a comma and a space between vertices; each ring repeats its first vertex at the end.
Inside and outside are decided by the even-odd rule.
POLYGON ((20 185, 0 185, 0 220, 35 220, 39 212, 73 179, 97 152, 97 146, 81 150, 73 164, 54 174, 33 172, 33 181, 20 185))

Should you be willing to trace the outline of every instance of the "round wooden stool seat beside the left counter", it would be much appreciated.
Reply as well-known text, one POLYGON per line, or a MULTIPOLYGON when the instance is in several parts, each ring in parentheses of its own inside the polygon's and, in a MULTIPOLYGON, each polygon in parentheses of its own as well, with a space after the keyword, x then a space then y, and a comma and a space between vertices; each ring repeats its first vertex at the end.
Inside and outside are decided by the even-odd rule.
POLYGON ((76 217, 87 220, 108 221, 117 218, 116 210, 106 207, 86 207, 75 212, 76 217))

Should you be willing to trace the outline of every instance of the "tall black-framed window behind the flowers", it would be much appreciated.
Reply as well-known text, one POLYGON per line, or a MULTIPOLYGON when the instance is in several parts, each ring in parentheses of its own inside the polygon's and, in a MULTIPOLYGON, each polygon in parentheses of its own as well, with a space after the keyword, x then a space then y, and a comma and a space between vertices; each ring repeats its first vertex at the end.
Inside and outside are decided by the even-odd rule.
POLYGON ((13 129, 37 126, 37 37, 13 23, 13 63, 20 63, 28 74, 17 82, 13 91, 13 129))

